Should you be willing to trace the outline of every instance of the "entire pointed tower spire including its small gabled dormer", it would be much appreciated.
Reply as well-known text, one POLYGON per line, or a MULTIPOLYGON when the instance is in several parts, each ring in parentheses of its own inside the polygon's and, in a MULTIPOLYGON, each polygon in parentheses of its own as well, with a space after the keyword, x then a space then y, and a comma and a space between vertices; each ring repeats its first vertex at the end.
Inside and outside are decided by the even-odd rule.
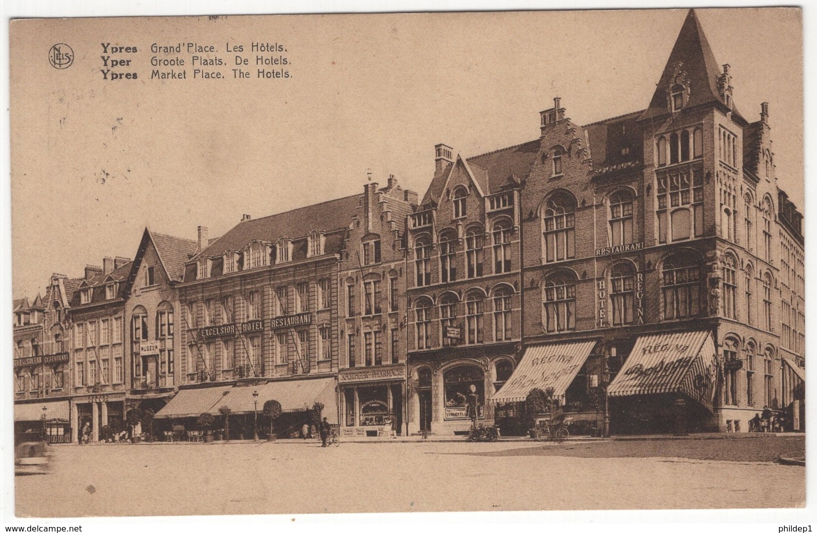
MULTIPOLYGON (((719 102, 726 105, 722 90, 724 81, 728 86, 698 16, 694 9, 690 9, 655 87, 650 107, 641 115, 641 120, 700 104, 719 102)), ((734 109, 731 101, 728 104, 734 109)))

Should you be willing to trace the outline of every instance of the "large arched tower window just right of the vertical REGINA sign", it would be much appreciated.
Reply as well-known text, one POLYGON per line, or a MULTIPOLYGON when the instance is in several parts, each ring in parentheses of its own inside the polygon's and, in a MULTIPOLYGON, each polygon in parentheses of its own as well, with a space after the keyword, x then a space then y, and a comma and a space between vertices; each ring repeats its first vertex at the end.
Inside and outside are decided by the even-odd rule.
POLYGON ((701 262, 690 252, 676 253, 663 265, 664 320, 697 317, 701 313, 701 262))

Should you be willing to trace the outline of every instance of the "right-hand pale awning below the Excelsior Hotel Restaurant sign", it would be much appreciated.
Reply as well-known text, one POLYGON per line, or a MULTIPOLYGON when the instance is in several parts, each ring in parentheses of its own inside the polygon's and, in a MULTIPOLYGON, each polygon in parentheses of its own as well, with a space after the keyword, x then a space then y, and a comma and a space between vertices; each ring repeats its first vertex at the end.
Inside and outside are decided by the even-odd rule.
POLYGON ((236 414, 252 413, 255 411, 252 393, 257 391, 258 412, 264 409, 264 403, 268 400, 277 400, 284 412, 306 411, 311 409, 315 402, 321 402, 324 404, 323 415, 327 417, 328 422, 337 424, 336 385, 337 381, 334 378, 323 378, 271 381, 261 385, 230 387, 228 388, 230 392, 225 394, 220 402, 211 406, 209 412, 216 415, 221 406, 228 406, 236 414))

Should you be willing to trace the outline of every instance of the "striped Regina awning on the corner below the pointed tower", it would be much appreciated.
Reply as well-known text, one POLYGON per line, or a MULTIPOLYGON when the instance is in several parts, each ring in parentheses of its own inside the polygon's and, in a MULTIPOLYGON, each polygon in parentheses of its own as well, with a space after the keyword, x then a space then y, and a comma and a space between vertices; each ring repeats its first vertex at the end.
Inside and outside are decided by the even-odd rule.
POLYGON ((712 411, 716 381, 715 344, 708 331, 645 335, 636 340, 607 393, 684 393, 712 411))

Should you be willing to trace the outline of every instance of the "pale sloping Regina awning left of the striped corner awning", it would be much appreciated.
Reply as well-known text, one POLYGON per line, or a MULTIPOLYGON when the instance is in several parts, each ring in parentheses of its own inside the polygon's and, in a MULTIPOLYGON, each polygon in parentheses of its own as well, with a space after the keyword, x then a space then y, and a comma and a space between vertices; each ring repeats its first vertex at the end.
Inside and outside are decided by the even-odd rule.
POLYGON ((595 340, 574 343, 542 344, 525 350, 511 379, 490 398, 491 402, 525 402, 533 389, 553 388, 553 397, 562 398, 565 390, 596 346, 595 340))

